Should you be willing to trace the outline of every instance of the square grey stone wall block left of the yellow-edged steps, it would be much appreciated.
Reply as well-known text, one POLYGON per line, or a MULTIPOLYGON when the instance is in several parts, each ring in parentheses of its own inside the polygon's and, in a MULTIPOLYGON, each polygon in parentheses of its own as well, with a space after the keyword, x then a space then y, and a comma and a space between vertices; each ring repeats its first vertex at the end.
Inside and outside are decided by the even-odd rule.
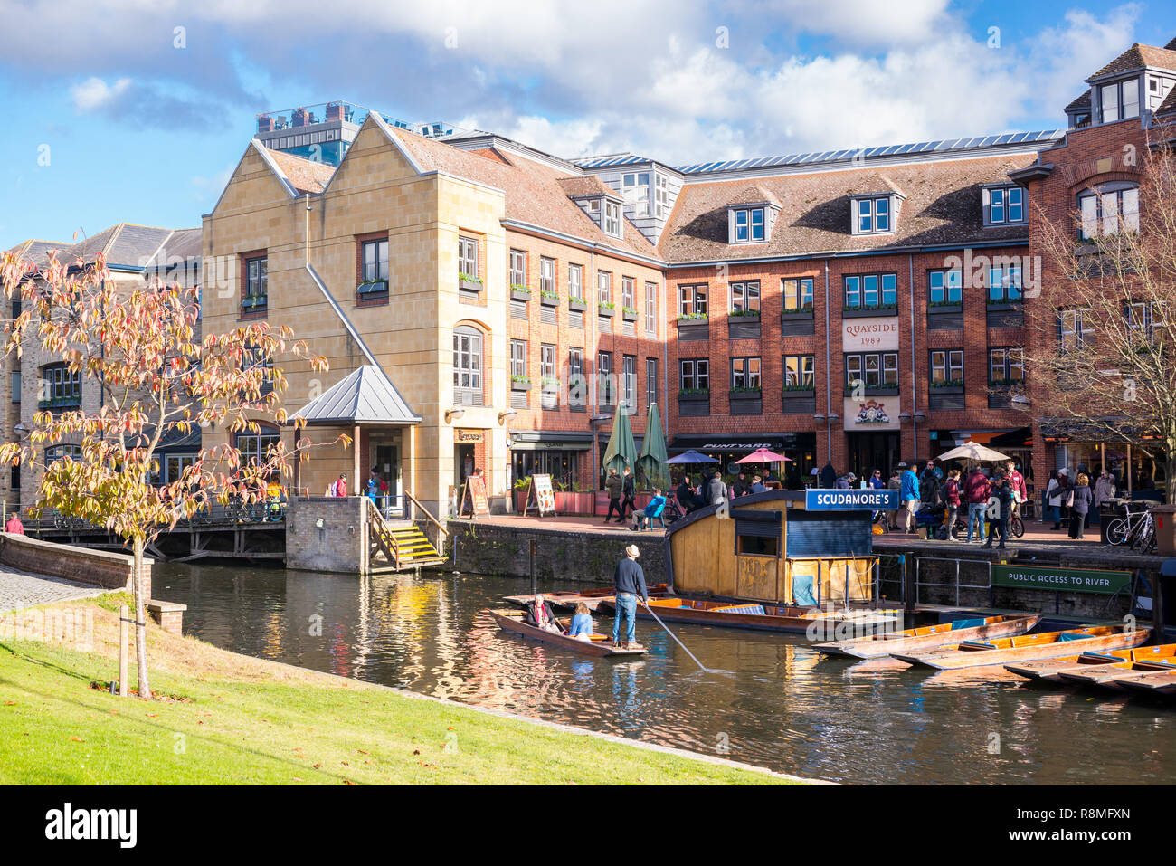
POLYGON ((363 497, 292 498, 286 509, 286 567, 363 573, 366 508, 363 497))

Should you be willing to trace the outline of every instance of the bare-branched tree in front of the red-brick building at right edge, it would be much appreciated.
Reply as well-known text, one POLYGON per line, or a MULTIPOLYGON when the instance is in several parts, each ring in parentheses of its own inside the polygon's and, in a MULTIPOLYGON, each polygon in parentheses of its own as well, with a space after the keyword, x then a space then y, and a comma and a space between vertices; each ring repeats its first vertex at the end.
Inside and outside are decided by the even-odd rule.
MULTIPOLYGON (((1176 501, 1176 161, 1148 148, 1131 180, 1083 191, 1065 220, 1037 208, 1044 258, 1025 373, 1035 415, 1131 442, 1176 501)), ((1028 297, 1029 293, 1027 293, 1028 297)))

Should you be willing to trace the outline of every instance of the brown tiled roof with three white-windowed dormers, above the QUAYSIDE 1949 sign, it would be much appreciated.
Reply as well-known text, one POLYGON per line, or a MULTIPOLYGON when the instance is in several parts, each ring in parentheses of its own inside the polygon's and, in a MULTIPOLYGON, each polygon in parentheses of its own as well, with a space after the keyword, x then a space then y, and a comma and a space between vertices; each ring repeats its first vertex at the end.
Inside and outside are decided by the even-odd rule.
POLYGON ((847 169, 763 178, 760 185, 781 202, 767 244, 729 245, 727 207, 746 189, 739 181, 687 184, 679 193, 660 249, 671 262, 754 259, 831 252, 931 246, 988 240, 1020 241, 1024 226, 984 228, 981 185, 1008 181, 1008 172, 1036 161, 1036 154, 1000 155, 887 166, 886 175, 904 191, 893 234, 854 235, 850 196, 876 184, 874 169, 847 169))

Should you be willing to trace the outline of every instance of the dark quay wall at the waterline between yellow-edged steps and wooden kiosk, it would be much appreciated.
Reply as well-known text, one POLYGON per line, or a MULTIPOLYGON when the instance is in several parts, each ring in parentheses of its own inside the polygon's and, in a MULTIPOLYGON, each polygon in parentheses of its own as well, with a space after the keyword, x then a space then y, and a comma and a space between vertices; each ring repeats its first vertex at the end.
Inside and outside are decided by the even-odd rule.
POLYGON ((535 541, 535 577, 612 584, 613 569, 624 555, 624 546, 641 549, 637 560, 650 586, 666 580, 664 539, 649 532, 610 532, 607 537, 540 529, 520 526, 494 526, 468 520, 450 520, 450 561, 463 572, 529 578, 530 542, 535 541))

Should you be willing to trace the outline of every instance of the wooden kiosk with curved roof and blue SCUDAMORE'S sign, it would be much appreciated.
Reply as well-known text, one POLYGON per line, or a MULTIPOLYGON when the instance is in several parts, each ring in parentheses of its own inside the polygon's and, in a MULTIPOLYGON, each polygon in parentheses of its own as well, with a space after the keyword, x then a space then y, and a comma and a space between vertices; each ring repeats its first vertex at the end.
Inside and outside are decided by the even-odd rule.
POLYGON ((708 506, 666 532, 673 592, 774 604, 871 606, 874 511, 897 491, 768 491, 708 506))

